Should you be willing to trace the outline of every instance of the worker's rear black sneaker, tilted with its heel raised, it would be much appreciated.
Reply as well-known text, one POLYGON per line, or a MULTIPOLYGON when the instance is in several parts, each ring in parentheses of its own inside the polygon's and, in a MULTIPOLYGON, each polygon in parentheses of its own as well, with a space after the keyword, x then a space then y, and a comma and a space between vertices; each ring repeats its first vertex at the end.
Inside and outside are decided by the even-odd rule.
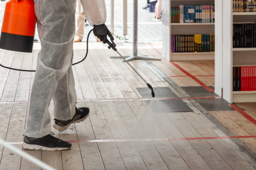
POLYGON ((64 121, 64 120, 54 119, 55 123, 53 127, 59 131, 66 130, 72 123, 79 123, 84 121, 88 117, 89 112, 90 110, 88 107, 80 107, 80 108, 76 107, 76 114, 71 120, 64 121))

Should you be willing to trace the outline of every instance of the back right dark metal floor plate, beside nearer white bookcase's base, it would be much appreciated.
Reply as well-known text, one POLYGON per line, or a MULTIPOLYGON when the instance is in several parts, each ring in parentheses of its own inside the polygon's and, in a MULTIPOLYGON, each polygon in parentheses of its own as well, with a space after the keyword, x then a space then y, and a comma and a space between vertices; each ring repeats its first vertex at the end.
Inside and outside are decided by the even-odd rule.
MULTIPOLYGON (((209 86, 214 89, 214 87, 209 86)), ((190 97, 217 97, 218 95, 214 92, 209 92, 202 86, 190 86, 190 87, 182 87, 182 89, 187 92, 190 97)))

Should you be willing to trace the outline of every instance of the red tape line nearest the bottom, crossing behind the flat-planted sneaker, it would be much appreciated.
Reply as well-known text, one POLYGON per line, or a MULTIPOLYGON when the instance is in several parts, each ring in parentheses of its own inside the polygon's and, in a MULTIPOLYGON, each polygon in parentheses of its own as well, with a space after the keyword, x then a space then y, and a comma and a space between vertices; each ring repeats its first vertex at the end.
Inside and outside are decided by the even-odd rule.
MULTIPOLYGON (((205 140, 205 139, 230 139, 230 138, 256 138, 253 136, 217 136, 199 138, 155 138, 155 139, 109 139, 109 140, 69 140, 69 143, 93 143, 93 142, 143 142, 143 141, 162 141, 162 140, 205 140)), ((7 142, 10 145, 18 145, 23 142, 7 142)))

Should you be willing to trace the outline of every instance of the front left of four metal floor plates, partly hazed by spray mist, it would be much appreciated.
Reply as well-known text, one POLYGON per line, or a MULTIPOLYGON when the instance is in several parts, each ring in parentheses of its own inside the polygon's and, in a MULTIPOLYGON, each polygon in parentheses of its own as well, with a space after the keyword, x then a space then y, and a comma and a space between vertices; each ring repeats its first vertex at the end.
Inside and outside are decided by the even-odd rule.
POLYGON ((154 112, 191 112, 186 103, 181 99, 170 100, 146 100, 146 103, 154 112))

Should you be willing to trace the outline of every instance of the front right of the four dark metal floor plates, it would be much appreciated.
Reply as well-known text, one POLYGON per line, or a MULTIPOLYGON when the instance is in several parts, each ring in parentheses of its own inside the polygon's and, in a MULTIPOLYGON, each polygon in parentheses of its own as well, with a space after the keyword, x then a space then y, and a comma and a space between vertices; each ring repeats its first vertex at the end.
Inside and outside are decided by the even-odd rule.
POLYGON ((228 111, 234 110, 224 99, 194 99, 207 111, 228 111))

